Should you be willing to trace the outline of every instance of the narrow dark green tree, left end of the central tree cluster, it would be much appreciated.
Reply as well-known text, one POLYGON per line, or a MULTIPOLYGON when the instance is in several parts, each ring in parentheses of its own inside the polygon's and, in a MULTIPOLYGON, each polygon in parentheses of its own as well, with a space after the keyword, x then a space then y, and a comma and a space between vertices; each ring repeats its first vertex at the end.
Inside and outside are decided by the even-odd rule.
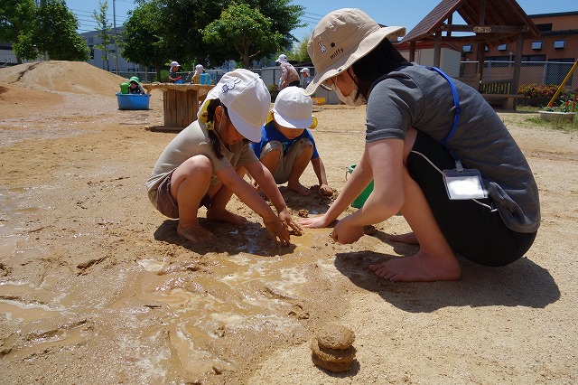
POLYGON ((141 2, 129 12, 124 24, 121 54, 128 61, 152 67, 156 80, 161 81, 161 69, 171 56, 163 39, 163 26, 159 23, 163 4, 160 1, 141 2))

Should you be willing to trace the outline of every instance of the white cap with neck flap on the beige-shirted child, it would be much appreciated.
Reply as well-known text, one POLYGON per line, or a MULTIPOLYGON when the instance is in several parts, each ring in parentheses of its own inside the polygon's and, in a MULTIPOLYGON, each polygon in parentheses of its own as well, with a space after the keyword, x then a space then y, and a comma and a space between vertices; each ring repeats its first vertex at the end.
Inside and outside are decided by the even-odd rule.
POLYGON ((197 117, 206 111, 211 99, 220 99, 238 132, 251 142, 261 140, 261 127, 269 113, 271 94, 259 75, 250 70, 227 72, 200 106, 197 117))

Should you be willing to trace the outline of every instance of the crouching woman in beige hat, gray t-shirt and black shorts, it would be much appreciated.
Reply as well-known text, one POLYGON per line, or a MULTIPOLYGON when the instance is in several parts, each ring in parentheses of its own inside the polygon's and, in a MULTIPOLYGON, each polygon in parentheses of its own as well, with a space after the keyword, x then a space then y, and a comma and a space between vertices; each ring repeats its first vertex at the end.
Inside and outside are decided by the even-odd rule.
POLYGON ((540 226, 534 174, 480 92, 396 51, 389 39, 405 30, 381 27, 352 8, 325 15, 313 30, 307 52, 315 78, 305 94, 323 84, 350 106, 367 105, 366 133, 337 200, 301 224, 330 226, 373 179, 363 207, 338 221, 331 237, 355 242, 364 225, 401 211, 412 232, 390 239, 419 249, 369 265, 378 277, 455 280, 456 254, 483 266, 508 265, 526 254, 540 226))

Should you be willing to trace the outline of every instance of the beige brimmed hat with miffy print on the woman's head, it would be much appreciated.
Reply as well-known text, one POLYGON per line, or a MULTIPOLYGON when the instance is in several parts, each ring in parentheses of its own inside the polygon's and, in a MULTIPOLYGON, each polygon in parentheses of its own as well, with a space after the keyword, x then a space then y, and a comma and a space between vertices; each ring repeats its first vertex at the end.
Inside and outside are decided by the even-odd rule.
POLYGON ((342 8, 325 15, 307 43, 315 78, 305 89, 305 95, 312 95, 323 81, 350 68, 382 40, 405 34, 406 27, 381 27, 357 8, 342 8))

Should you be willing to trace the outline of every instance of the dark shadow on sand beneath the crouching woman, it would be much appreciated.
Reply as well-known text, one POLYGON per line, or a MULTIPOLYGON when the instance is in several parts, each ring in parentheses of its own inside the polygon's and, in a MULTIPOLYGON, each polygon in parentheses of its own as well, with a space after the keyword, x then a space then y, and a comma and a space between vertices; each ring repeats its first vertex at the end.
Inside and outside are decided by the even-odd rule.
MULTIPOLYGON (((403 245, 403 255, 417 247, 403 245)), ((550 273, 527 258, 502 268, 487 268, 460 257, 461 279, 454 282, 394 283, 373 274, 368 266, 394 255, 372 251, 339 253, 335 267, 350 281, 378 293, 388 303, 412 313, 428 313, 445 306, 527 306, 544 308, 560 298, 550 273)))

